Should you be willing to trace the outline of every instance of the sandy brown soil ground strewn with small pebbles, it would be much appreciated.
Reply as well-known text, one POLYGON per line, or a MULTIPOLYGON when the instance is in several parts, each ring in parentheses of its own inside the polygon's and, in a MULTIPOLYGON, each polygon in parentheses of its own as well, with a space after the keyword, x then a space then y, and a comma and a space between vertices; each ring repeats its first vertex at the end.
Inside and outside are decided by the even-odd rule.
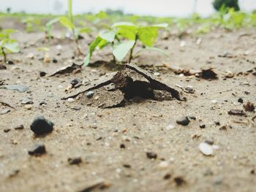
MULTIPOLYGON (((49 77, 67 64, 82 64, 82 56, 72 58, 75 44, 69 39, 44 42, 39 32, 21 31, 15 37, 21 53, 8 55, 15 64, 0 70, 0 85, 27 85, 29 91, 0 89, 0 111, 10 110, 0 115, 0 191, 256 191, 255 112, 243 107, 247 101, 256 104, 255 29, 183 39, 171 31, 165 39, 160 36, 157 46, 170 57, 144 52, 135 63, 187 101, 129 99, 124 107, 110 109, 61 100, 75 78, 86 83, 115 72, 113 66, 100 65, 112 58, 108 48, 94 53, 97 66, 49 77), (43 62, 37 47, 50 47, 50 63, 43 62), (198 76, 211 68, 216 80, 198 76), (22 104, 25 97, 33 104, 22 104), (35 137, 30 129, 38 115, 54 123, 45 137, 35 137), (184 116, 196 119, 178 125, 184 116), (213 154, 199 150, 205 141, 213 154), (46 153, 29 155, 38 143, 46 153)), ((91 40, 80 41, 83 53, 91 40)))

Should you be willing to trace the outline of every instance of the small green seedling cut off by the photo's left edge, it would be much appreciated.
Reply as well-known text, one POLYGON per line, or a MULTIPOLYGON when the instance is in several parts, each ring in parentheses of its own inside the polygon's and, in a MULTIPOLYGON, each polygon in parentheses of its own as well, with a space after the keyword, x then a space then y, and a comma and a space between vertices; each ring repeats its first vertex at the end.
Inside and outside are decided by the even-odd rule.
POLYGON ((4 63, 7 62, 7 53, 18 53, 20 47, 16 39, 12 39, 10 34, 15 33, 14 29, 4 29, 0 32, 0 55, 4 57, 4 63))

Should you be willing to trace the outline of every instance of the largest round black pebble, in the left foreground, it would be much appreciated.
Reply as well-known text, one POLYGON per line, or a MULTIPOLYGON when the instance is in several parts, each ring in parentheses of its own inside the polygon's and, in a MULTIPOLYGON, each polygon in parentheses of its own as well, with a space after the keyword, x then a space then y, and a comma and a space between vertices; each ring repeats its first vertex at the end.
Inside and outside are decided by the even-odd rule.
POLYGON ((53 123, 50 120, 45 119, 42 116, 34 118, 33 123, 30 126, 31 131, 36 135, 44 135, 53 131, 53 123))

